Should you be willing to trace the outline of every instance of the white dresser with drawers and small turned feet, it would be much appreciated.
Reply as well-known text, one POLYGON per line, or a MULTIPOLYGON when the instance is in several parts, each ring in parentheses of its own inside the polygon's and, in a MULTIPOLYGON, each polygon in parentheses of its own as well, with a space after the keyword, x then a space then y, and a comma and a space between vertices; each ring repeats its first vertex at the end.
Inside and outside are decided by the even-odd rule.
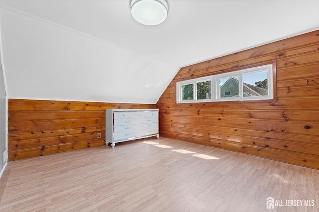
POLYGON ((105 144, 160 137, 159 109, 107 109, 105 113, 105 144))

